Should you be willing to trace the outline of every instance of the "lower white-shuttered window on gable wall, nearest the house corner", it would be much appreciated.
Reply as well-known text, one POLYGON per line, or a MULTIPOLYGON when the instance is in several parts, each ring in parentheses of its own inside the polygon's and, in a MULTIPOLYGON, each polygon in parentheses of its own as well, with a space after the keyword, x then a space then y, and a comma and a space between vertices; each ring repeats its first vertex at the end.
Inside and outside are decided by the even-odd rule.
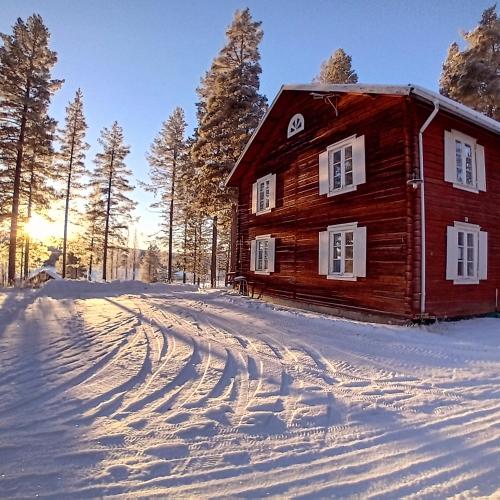
POLYGON ((352 281, 366 277, 366 227, 352 222, 319 233, 319 274, 352 281))

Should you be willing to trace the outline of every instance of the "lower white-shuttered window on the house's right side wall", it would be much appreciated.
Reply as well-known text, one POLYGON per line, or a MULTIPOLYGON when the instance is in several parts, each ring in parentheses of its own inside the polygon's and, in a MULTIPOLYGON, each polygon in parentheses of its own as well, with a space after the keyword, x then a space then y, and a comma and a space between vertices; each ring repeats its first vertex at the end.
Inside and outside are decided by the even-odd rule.
POLYGON ((447 230, 446 279, 477 284, 487 278, 488 234, 475 224, 455 222, 447 230))

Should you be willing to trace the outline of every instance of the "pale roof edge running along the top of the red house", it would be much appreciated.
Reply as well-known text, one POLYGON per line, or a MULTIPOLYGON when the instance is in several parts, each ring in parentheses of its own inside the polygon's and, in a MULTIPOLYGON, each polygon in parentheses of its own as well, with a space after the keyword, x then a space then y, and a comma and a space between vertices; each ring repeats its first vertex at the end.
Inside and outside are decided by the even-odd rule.
POLYGON ((423 101, 427 101, 430 103, 437 102, 439 104, 440 109, 444 109, 456 116, 459 116, 469 122, 472 122, 476 125, 479 125, 487 130, 490 130, 496 134, 500 134, 500 122, 493 120, 492 118, 488 118, 487 116, 479 113, 478 111, 474 111, 473 109, 460 104, 459 102, 454 101, 453 99, 449 99, 448 97, 442 96, 437 92, 433 92, 432 90, 427 90, 424 87, 420 87, 419 85, 414 85, 409 83, 408 85, 380 85, 380 84, 321 84, 321 83, 311 83, 311 84, 291 84, 291 85, 283 85, 279 90, 278 94, 274 98, 273 102, 267 109, 266 114, 262 118, 259 123, 259 126, 254 130, 252 136, 248 140, 245 149, 241 153, 238 161, 235 163, 233 169, 226 179, 226 185, 229 183, 229 180, 233 176, 234 172, 238 168, 241 160, 245 156, 246 152, 250 148, 253 140, 259 133, 259 130, 262 124, 266 121, 267 117, 271 113, 274 105, 280 98, 281 94, 286 91, 301 91, 301 92, 316 92, 316 93, 330 93, 330 92, 338 92, 338 93, 349 93, 349 94, 381 94, 381 95, 413 95, 417 99, 421 99, 423 101))

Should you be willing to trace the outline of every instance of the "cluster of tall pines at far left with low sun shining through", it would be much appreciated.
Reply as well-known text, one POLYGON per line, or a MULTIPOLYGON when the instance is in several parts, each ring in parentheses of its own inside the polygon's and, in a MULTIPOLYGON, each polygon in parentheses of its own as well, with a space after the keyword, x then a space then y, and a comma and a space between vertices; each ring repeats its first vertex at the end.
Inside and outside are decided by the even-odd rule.
MULTIPOLYGON (((77 90, 68 104, 62 128, 48 114, 51 97, 63 80, 51 78, 57 54, 49 47, 50 34, 42 18, 35 14, 26 22, 18 19, 12 34, 0 36, 0 234, 8 261, 7 281, 14 284, 28 276, 36 250, 31 246, 30 221, 34 214, 47 214, 58 200, 64 200, 65 207, 63 277, 68 262, 76 261, 78 267, 85 262, 89 277, 92 265, 102 263, 106 279, 110 250, 128 252, 125 235, 135 207, 127 197, 133 188, 125 165, 129 148, 123 131, 116 122, 103 128, 95 168, 88 171, 82 92, 77 90), (59 144, 57 151, 54 143, 59 144), (88 201, 82 211, 77 200, 83 197, 88 201), (68 251, 71 213, 78 213, 74 223, 81 233, 68 251)), ((44 243, 38 251, 47 257, 44 243)))

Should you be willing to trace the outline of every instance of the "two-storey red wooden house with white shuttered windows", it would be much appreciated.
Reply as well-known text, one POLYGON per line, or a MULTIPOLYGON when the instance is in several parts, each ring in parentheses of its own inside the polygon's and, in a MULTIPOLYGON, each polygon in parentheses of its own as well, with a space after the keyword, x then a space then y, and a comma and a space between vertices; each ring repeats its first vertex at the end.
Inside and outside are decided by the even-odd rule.
POLYGON ((263 298, 402 321, 499 307, 500 123, 439 94, 284 86, 227 185, 235 271, 263 298))

